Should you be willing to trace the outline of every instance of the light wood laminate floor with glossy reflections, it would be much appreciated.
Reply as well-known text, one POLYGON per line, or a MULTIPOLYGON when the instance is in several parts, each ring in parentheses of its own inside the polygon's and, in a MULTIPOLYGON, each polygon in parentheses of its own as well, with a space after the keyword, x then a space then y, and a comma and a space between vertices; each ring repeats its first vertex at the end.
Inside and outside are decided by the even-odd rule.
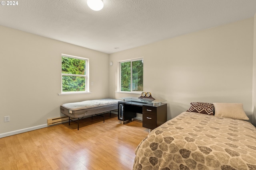
POLYGON ((0 170, 131 170, 134 150, 148 135, 142 121, 122 125, 105 113, 0 138, 0 170))

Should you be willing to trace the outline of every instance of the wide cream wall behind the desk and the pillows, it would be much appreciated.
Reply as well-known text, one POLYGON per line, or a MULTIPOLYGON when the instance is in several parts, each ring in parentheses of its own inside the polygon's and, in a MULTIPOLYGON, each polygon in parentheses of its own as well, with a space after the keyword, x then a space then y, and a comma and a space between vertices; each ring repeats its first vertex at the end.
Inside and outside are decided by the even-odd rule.
POLYGON ((250 18, 111 54, 110 97, 132 96, 115 93, 118 61, 144 57, 144 91, 167 100, 167 119, 190 102, 243 103, 252 119, 253 24, 250 18))

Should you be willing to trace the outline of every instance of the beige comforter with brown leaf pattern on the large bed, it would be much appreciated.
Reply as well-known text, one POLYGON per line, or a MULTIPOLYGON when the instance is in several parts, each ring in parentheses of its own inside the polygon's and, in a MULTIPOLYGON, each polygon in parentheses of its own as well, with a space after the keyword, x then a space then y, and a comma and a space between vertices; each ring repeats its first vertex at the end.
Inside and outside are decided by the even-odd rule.
POLYGON ((151 131, 135 154, 133 170, 256 170, 256 127, 183 112, 151 131))

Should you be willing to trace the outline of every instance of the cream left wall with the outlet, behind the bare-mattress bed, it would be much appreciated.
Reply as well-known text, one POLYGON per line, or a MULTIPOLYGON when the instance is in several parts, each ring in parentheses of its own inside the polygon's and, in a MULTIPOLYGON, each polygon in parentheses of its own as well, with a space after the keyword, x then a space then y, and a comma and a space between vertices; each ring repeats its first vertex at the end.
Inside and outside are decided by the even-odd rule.
POLYGON ((45 125, 63 103, 108 97, 108 54, 0 26, 0 57, 0 134, 45 125), (91 94, 58 96, 62 53, 89 59, 91 94))

